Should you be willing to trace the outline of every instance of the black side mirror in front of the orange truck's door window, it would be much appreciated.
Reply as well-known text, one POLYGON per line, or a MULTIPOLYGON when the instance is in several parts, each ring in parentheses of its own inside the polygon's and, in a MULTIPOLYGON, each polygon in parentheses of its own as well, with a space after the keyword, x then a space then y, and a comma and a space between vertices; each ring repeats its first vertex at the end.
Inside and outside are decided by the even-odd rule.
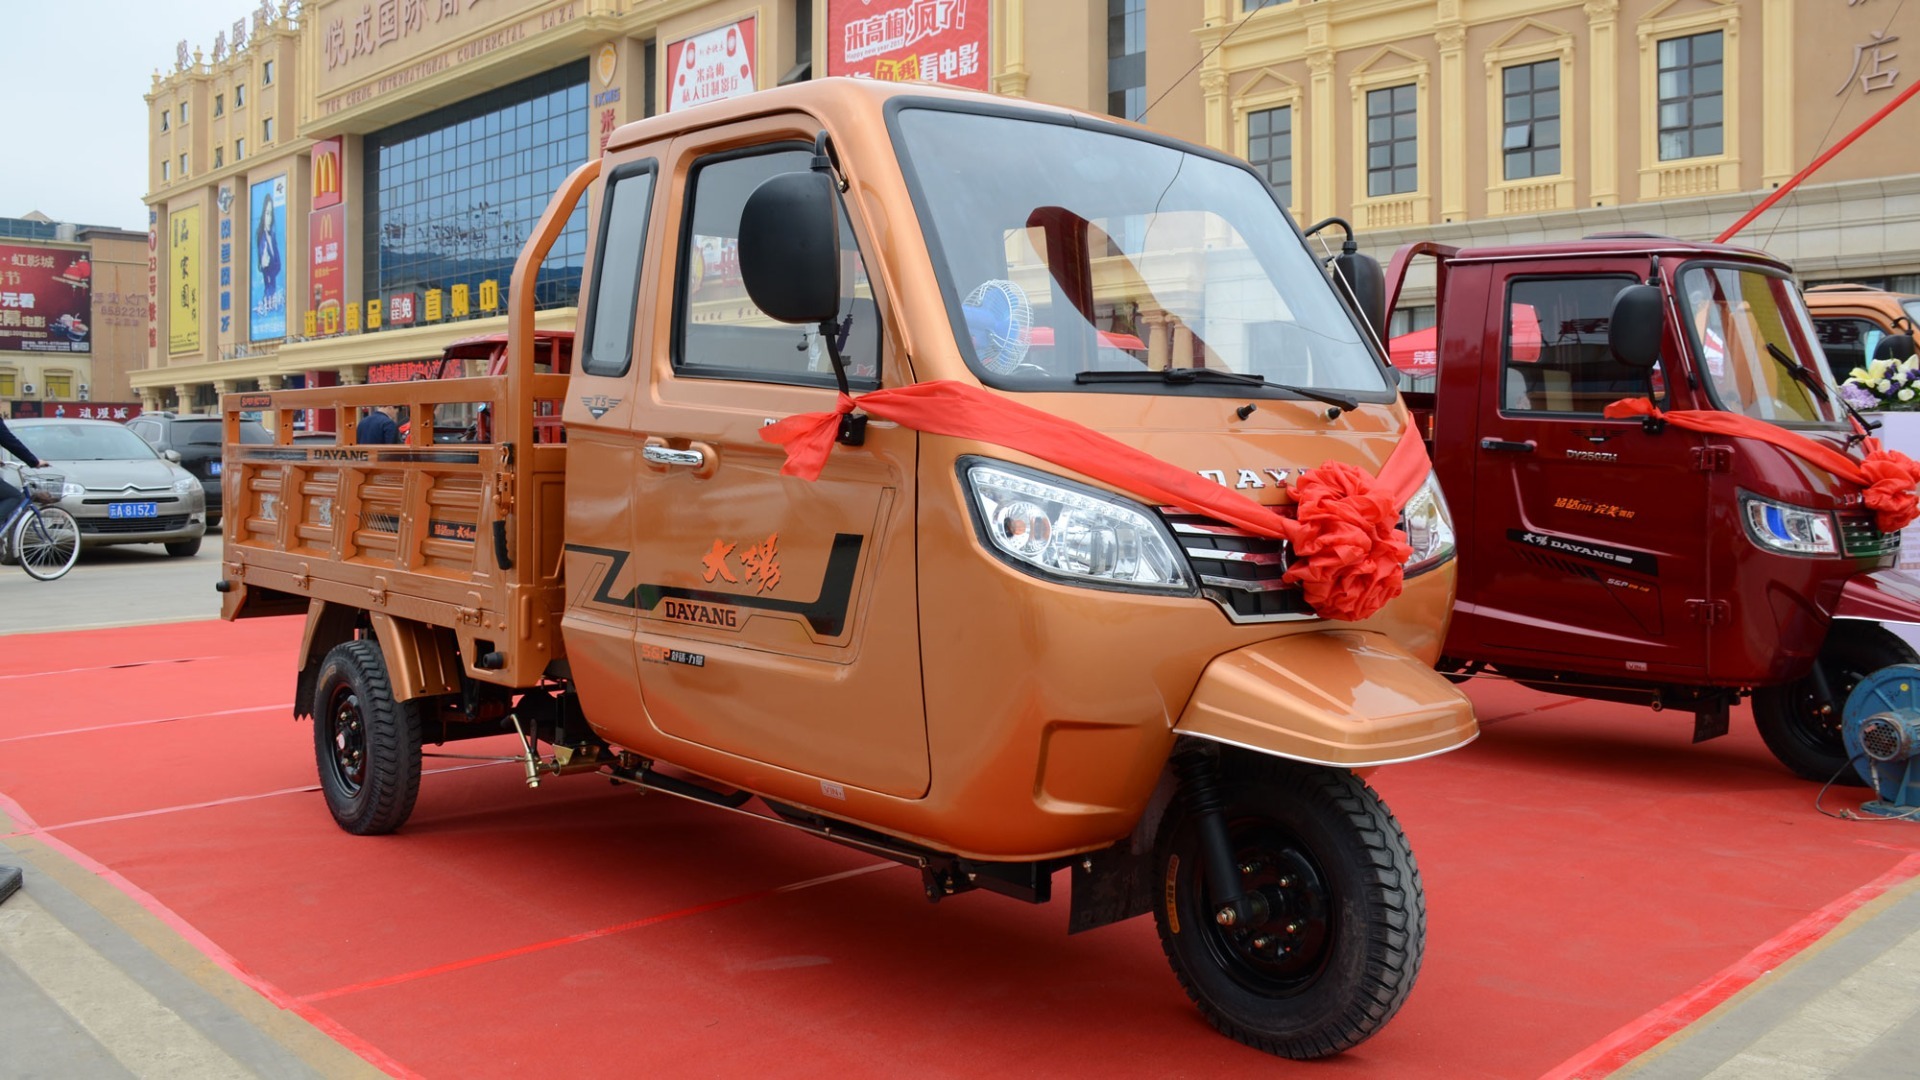
POLYGON ((780 173, 739 213, 739 277, 781 323, 839 315, 839 198, 824 171, 780 173))

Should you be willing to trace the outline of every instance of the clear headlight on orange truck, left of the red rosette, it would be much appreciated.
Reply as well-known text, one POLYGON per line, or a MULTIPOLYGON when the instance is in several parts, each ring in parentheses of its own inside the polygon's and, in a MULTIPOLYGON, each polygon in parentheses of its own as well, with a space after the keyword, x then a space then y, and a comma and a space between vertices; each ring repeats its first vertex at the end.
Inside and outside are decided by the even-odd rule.
POLYGON ((1018 465, 960 461, 973 525, 1006 561, 1069 584, 1190 592, 1187 559, 1146 507, 1018 465))

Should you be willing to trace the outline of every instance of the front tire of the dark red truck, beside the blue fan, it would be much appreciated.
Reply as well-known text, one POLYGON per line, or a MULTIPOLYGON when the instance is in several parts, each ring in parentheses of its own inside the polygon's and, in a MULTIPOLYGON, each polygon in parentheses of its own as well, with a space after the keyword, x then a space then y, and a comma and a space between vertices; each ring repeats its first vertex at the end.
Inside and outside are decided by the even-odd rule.
POLYGON ((1782 686, 1763 686, 1753 692, 1753 724, 1761 728, 1766 749, 1795 774, 1862 788, 1866 780, 1847 761, 1839 736, 1847 696, 1882 667, 1920 663, 1920 655, 1878 623, 1837 619, 1814 663, 1826 676, 1828 696, 1820 694, 1812 673, 1782 686))

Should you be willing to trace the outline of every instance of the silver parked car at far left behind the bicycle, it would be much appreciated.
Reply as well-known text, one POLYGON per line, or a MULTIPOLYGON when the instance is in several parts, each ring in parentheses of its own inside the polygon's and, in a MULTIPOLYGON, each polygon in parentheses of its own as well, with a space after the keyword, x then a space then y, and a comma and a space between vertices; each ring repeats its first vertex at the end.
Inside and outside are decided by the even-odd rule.
MULTIPOLYGON (((21 419, 13 432, 65 475, 60 505, 81 525, 81 548, 165 544, 194 555, 207 530, 200 479, 113 421, 21 419)), ((215 454, 219 444, 215 444, 215 454)), ((13 457, 0 452, 8 461, 13 457)))

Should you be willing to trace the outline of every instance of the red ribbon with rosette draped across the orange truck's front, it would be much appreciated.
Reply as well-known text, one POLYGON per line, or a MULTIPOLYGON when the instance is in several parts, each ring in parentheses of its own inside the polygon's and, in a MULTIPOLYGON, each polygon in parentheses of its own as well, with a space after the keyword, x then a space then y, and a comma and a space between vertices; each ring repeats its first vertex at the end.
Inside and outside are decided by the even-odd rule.
POLYGON ((916 382, 841 394, 829 413, 799 413, 760 429, 760 438, 787 448, 781 475, 820 479, 839 419, 854 407, 927 434, 991 442, 1112 484, 1150 505, 1204 513, 1256 536, 1286 540, 1294 563, 1283 580, 1298 584, 1313 611, 1359 621, 1404 588, 1413 548, 1400 532, 1400 507, 1419 492, 1432 465, 1409 425, 1379 479, 1342 461, 1327 461, 1296 480, 1288 494, 1294 517, 1240 492, 1208 482, 1125 442, 979 386, 952 380, 916 382))

